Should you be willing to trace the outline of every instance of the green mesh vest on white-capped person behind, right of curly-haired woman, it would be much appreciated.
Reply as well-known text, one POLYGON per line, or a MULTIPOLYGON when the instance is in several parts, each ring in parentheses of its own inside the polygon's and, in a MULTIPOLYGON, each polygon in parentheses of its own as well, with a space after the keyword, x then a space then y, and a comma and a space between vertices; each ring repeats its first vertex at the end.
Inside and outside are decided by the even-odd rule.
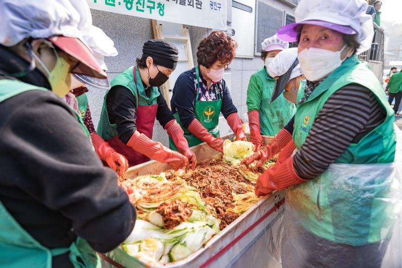
POLYGON ((268 75, 265 67, 258 70, 257 75, 263 84, 260 105, 260 129, 261 134, 275 136, 290 121, 296 112, 296 106, 289 102, 281 94, 275 101, 271 100, 275 80, 268 75))

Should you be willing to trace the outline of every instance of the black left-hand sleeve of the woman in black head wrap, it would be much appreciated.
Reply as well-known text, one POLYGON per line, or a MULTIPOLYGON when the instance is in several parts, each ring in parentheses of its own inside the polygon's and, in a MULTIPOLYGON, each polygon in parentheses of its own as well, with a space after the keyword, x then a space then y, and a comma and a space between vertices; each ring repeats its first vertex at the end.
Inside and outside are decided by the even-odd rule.
POLYGON ((137 102, 131 91, 123 85, 115 85, 106 97, 109 120, 116 124, 119 139, 127 144, 137 130, 137 102))

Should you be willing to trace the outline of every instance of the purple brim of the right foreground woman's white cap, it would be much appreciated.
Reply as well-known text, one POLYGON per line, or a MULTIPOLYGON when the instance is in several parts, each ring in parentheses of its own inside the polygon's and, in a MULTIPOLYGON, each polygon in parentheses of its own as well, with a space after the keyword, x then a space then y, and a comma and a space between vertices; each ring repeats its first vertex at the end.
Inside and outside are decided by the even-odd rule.
POLYGON ((319 21, 319 20, 308 20, 301 21, 298 23, 292 23, 279 28, 276 35, 279 39, 287 42, 298 42, 297 35, 302 31, 303 25, 311 24, 329 28, 331 30, 343 33, 343 34, 356 34, 357 32, 353 30, 352 27, 346 25, 339 25, 331 22, 319 21))

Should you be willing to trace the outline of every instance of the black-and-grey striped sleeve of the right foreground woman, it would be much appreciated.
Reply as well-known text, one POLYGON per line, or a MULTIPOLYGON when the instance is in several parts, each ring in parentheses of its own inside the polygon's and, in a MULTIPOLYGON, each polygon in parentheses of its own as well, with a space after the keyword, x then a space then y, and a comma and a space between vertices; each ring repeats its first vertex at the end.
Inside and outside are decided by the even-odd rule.
POLYGON ((317 177, 384 117, 385 112, 368 88, 357 84, 344 86, 324 104, 305 143, 295 154, 295 172, 306 179, 317 177))

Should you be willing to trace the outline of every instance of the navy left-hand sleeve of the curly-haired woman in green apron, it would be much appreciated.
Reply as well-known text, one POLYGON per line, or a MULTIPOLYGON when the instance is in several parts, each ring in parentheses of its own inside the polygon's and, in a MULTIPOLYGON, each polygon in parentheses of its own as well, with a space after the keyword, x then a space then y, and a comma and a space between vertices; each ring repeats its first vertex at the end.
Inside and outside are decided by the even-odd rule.
MULTIPOLYGON (((195 119, 194 101, 194 81, 187 75, 180 75, 174 84, 171 106, 172 109, 174 107, 177 111, 180 121, 185 128, 195 119)), ((175 113, 174 110, 173 113, 175 113)))

